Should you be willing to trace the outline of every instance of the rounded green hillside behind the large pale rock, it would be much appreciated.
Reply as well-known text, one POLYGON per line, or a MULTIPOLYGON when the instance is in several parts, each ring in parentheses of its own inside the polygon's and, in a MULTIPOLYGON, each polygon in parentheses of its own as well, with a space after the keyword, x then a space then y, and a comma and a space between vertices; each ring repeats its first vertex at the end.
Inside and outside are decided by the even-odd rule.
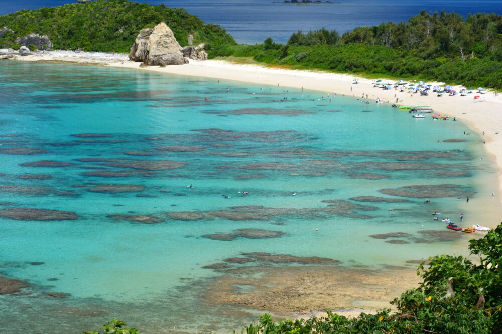
POLYGON ((184 9, 127 0, 95 0, 0 16, 0 27, 14 31, 0 37, 0 46, 16 47, 16 37, 37 33, 48 35, 54 49, 129 52, 141 29, 153 28, 161 21, 173 30, 182 46, 187 45, 187 34, 193 34, 196 44, 235 44, 223 28, 206 25, 184 9))

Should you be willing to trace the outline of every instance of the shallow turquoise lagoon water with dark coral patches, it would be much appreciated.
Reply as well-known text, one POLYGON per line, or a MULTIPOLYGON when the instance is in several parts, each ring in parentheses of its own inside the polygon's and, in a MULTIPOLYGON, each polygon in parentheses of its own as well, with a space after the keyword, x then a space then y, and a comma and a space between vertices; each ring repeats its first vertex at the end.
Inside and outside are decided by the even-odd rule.
POLYGON ((349 97, 23 62, 2 63, 0 92, 0 172, 5 174, 0 177, 0 274, 32 284, 25 294, 0 296, 6 333, 35 332, 27 319, 39 329, 79 332, 114 316, 146 333, 174 326, 215 329, 222 321, 238 326, 254 314, 235 315, 229 307, 214 319, 214 308, 200 295, 221 273, 203 266, 241 252, 374 267, 465 253, 471 235, 441 241, 420 231, 444 230, 432 211, 458 223, 464 213, 465 224, 477 223, 473 217, 480 213, 472 203, 484 200, 485 188, 495 180, 491 162, 478 149, 481 139, 463 136, 470 132, 463 123, 412 119, 389 105, 349 97), (447 139, 463 141, 443 142, 447 139), (29 164, 41 160, 67 165, 29 164), (20 178, 25 174, 50 179, 20 178), (423 185, 427 195, 396 193, 423 185), (357 196, 406 201, 362 202, 354 200, 357 196), (431 204, 424 204, 426 197, 431 204), (15 220, 5 218, 9 211, 3 209, 9 208, 70 211, 78 218, 15 220), (200 219, 182 219, 186 214, 180 212, 200 219), (150 215, 160 222, 107 215, 150 215), (203 237, 243 228, 284 235, 203 237), (410 234, 404 239, 409 243, 369 237, 389 232, 410 234), (44 291, 71 297, 51 299, 44 291), (75 308, 106 313, 82 314, 75 308))

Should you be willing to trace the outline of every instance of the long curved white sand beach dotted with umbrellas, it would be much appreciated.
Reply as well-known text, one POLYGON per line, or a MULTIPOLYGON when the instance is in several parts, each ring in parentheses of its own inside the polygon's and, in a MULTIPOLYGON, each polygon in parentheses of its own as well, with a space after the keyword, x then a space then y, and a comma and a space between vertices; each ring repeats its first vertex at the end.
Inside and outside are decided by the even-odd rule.
MULTIPOLYGON (((291 70, 277 67, 264 67, 250 64, 236 64, 221 60, 191 61, 185 65, 170 65, 166 67, 148 66, 140 68, 140 63, 128 60, 127 54, 105 54, 73 51, 45 51, 28 56, 16 56, 14 59, 25 61, 60 61, 72 63, 99 64, 121 68, 139 69, 141 71, 154 71, 169 74, 206 77, 224 80, 236 80, 259 85, 274 85, 279 87, 296 88, 302 87, 309 90, 317 90, 345 96, 360 98, 364 95, 375 103, 377 98, 387 103, 431 106, 435 113, 449 115, 451 118, 466 123, 473 131, 479 133, 485 140, 483 145, 487 153, 492 157, 499 170, 498 186, 493 187, 493 192, 498 198, 502 195, 502 95, 496 96, 493 91, 485 91, 478 94, 474 91, 467 96, 448 96, 444 94, 437 97, 435 93, 428 96, 400 92, 400 90, 382 90, 373 87, 371 79, 365 79, 350 74, 337 74, 321 71, 291 70), (353 84, 353 79, 358 79, 358 84, 353 84), (474 96, 479 95, 479 99, 474 96), (498 188, 498 189, 497 189, 498 188)), ((382 82, 395 82, 385 78, 382 82)), ((416 84, 416 83, 415 83, 416 84)), ((444 84, 441 82, 428 82, 432 85, 444 84)), ((457 91, 461 86, 454 86, 457 91)), ((336 98, 336 97, 334 97, 336 98)), ((402 110, 400 112, 403 112, 402 110)), ((410 116, 411 117, 411 116, 410 116)), ((440 140, 441 138, 438 138, 440 140)))

